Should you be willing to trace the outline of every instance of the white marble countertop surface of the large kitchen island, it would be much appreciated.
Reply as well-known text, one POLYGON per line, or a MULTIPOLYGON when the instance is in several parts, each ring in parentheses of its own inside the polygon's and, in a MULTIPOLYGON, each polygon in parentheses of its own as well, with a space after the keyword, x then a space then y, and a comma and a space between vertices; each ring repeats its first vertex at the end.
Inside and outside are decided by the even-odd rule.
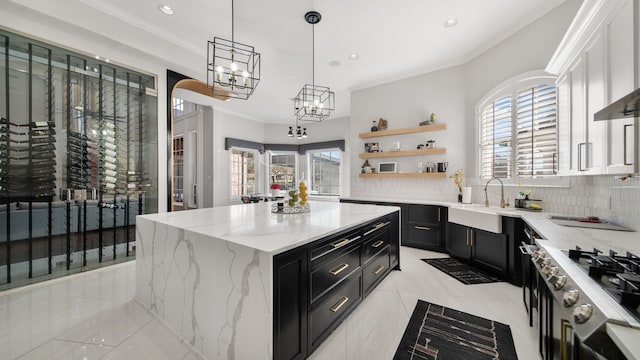
POLYGON ((271 203, 260 202, 139 218, 275 255, 400 210, 324 201, 309 201, 309 205, 311 212, 301 214, 274 214, 271 203))

